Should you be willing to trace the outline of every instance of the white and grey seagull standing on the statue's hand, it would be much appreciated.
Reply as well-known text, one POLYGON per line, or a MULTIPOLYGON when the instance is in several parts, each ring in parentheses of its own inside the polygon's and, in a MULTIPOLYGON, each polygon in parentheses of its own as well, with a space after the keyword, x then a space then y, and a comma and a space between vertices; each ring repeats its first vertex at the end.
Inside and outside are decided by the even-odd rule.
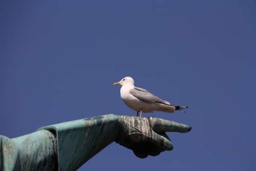
POLYGON ((140 117, 142 112, 148 113, 161 111, 174 113, 174 111, 181 111, 185 113, 183 109, 188 108, 188 106, 174 106, 168 101, 160 99, 145 89, 135 87, 132 77, 124 77, 113 85, 122 86, 120 90, 121 99, 127 106, 129 106, 129 108, 136 111, 137 116, 140 117))

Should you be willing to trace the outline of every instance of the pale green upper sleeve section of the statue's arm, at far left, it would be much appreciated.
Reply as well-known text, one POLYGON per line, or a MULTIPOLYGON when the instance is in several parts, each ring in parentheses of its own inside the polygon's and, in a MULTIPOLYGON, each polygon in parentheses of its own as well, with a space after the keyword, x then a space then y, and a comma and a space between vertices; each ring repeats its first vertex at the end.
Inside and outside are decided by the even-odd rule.
POLYGON ((0 136, 0 170, 56 170, 55 144, 46 130, 13 139, 0 136))

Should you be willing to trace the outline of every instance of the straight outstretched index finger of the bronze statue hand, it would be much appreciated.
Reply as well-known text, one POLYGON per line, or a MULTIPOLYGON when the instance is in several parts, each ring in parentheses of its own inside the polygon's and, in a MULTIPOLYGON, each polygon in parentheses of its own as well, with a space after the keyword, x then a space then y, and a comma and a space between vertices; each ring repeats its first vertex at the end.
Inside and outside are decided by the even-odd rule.
POLYGON ((161 132, 179 132, 179 133, 187 133, 191 130, 191 126, 185 125, 182 123, 160 119, 156 117, 147 118, 152 126, 152 130, 157 133, 161 132))

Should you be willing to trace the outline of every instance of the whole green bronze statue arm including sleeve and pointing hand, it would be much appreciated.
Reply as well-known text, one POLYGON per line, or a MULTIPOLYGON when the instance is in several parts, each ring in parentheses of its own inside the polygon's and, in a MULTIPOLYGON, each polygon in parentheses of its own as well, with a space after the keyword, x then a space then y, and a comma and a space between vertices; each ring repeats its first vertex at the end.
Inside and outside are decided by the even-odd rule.
POLYGON ((103 115, 44 126, 22 137, 0 136, 0 170, 76 170, 116 141, 139 158, 173 149, 165 132, 191 127, 156 117, 103 115))

